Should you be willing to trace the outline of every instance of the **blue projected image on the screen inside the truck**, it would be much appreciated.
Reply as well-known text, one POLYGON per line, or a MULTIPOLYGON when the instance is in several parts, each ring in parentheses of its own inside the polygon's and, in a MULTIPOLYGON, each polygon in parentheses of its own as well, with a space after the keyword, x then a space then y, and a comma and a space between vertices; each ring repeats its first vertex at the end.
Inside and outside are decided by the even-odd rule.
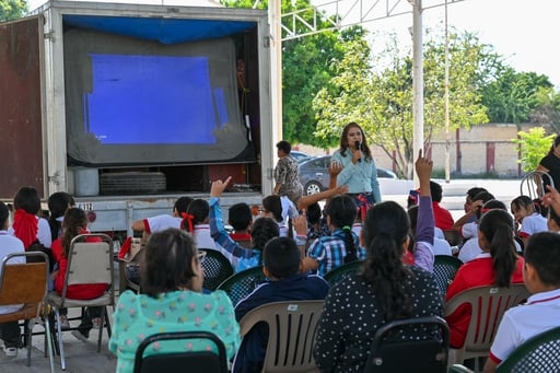
POLYGON ((93 90, 84 96, 86 133, 105 144, 215 143, 214 104, 221 123, 228 109, 221 94, 212 96, 208 58, 90 57, 93 90))

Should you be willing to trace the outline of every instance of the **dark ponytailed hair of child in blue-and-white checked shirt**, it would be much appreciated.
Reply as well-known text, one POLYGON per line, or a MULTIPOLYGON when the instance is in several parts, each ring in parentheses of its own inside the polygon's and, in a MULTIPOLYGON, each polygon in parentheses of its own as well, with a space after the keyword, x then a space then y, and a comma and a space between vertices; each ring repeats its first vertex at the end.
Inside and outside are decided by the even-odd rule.
POLYGON ((325 207, 330 224, 345 232, 345 263, 358 260, 358 253, 352 234, 352 224, 357 217, 357 207, 352 197, 347 195, 331 198, 325 207))

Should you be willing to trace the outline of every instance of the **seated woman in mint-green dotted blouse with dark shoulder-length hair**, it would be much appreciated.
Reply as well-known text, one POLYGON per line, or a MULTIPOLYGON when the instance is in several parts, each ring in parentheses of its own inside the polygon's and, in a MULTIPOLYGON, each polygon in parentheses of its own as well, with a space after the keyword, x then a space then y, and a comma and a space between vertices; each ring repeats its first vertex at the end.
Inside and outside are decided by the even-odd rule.
MULTIPOLYGON (((142 293, 125 291, 115 307, 109 350, 117 355, 117 373, 132 372, 140 342, 162 331, 202 330, 217 335, 232 359, 240 346, 240 327, 231 300, 223 291, 202 293, 202 253, 186 232, 167 229, 153 233, 140 266, 142 293)), ((162 341, 147 354, 214 351, 202 340, 162 341)))

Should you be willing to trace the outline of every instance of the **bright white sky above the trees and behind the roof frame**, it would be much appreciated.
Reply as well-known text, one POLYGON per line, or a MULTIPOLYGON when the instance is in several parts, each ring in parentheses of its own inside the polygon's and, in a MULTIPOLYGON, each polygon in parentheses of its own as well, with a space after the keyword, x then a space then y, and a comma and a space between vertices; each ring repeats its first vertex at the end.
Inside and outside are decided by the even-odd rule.
MULTIPOLYGON (((105 0, 107 1, 107 0, 105 0)), ((120 0, 136 2, 135 0, 120 0)), ((149 0, 148 0, 149 1, 149 0)), ((153 2, 192 3, 194 0, 153 0, 153 2)), ((295 0, 294 0, 295 1, 295 0)), ((368 3, 369 0, 362 0, 368 3)), ((451 0, 450 0, 451 1, 451 0)), ((40 5, 44 0, 28 0, 30 9, 40 5)), ((147 0, 138 0, 147 2, 147 0)), ((312 0, 314 4, 332 3, 334 0, 312 0)), ((359 0, 342 0, 340 7, 351 7, 359 0)), ((371 1, 373 3, 373 1, 371 1)), ((385 3, 385 1, 380 1, 385 3)), ((423 0, 424 7, 444 3, 445 0, 423 0)), ((408 0, 389 0, 402 9, 409 9, 408 0)), ((354 8, 355 9, 355 8, 354 8)), ((478 35, 481 43, 493 45, 505 62, 516 71, 534 71, 549 77, 560 90, 560 47, 557 44, 560 1, 559 0, 463 0, 448 4, 448 24, 458 31, 478 35)), ((423 12, 425 27, 442 24, 444 7, 423 12)), ((369 22, 370 30, 395 31, 404 43, 411 43, 408 27, 412 15, 404 14, 387 20, 369 22)))

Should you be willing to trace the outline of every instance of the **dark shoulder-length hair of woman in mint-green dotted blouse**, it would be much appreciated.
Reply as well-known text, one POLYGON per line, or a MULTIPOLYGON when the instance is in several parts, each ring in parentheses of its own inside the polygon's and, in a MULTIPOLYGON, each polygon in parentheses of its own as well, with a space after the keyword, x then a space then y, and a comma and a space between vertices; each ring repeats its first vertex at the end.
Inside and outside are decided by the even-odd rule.
POLYGON ((142 293, 158 298, 161 293, 191 289, 196 257, 197 247, 189 234, 174 228, 152 233, 140 266, 142 293))

